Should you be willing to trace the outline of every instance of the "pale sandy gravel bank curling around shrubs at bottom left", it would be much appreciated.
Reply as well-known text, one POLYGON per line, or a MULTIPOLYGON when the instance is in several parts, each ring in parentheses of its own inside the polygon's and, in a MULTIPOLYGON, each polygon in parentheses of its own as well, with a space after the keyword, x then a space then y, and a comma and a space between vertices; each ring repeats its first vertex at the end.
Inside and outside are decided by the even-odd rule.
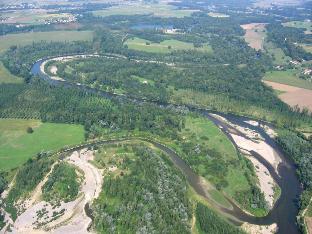
MULTIPOLYGON (((60 234, 89 233, 86 231, 86 228, 90 225, 91 219, 86 216, 84 207, 87 202, 91 203, 94 198, 99 196, 103 183, 102 174, 104 170, 97 169, 88 162, 89 160, 93 160, 93 157, 92 150, 86 151, 84 149, 81 150, 79 154, 75 151, 70 157, 65 159, 65 161, 77 166, 84 172, 85 178, 80 186, 80 193, 76 200, 67 203, 61 202, 61 206, 55 209, 52 209, 52 206, 47 202, 39 202, 38 200, 41 198, 41 186, 48 178, 47 175, 37 186, 37 188, 40 187, 40 189, 38 189, 38 191, 37 188, 34 190, 35 194, 33 194, 31 198, 33 203, 30 202, 30 206, 27 210, 17 217, 17 220, 14 222, 14 227, 11 227, 12 233, 46 233, 48 229, 52 230, 53 233, 60 234), (46 206, 44 207, 44 205, 46 206), (34 229, 37 226, 37 224, 33 224, 37 220, 36 212, 42 208, 46 208, 48 213, 41 219, 38 219, 38 222, 50 220, 53 211, 60 212, 62 209, 65 209, 65 212, 61 217, 46 224, 45 227, 34 229), (49 216, 49 218, 47 218, 47 216, 49 216)), ((1 233, 4 233, 4 230, 5 229, 2 229, 1 233)))

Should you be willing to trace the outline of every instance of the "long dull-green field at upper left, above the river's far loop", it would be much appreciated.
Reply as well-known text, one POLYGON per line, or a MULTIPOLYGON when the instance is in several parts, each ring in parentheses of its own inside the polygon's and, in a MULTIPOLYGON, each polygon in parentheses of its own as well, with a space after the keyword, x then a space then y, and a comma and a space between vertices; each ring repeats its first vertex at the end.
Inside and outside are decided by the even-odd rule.
POLYGON ((61 31, 7 34, 0 37, 0 55, 10 49, 10 46, 25 46, 32 42, 43 41, 88 41, 92 40, 92 31, 61 31))

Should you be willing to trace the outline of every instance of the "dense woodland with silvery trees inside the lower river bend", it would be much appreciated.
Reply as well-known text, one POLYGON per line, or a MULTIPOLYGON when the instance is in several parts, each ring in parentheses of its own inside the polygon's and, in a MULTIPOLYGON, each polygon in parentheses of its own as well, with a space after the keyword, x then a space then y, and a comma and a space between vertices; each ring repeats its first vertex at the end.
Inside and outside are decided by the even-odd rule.
POLYGON ((186 175, 165 155, 133 146, 138 158, 123 163, 131 172, 103 182, 105 194, 120 200, 108 209, 95 201, 93 227, 101 233, 190 233, 192 204, 186 175))

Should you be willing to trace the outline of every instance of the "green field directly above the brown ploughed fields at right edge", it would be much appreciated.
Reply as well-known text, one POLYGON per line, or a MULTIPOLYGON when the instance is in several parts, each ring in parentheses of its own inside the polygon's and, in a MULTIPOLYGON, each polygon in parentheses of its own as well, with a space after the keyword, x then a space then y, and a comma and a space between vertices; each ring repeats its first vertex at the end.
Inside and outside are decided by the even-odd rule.
POLYGON ((286 71, 269 71, 266 73, 266 76, 263 80, 312 90, 312 83, 310 81, 299 78, 298 75, 300 74, 301 73, 299 71, 291 69, 286 71), (295 76, 293 74, 295 74, 295 76))

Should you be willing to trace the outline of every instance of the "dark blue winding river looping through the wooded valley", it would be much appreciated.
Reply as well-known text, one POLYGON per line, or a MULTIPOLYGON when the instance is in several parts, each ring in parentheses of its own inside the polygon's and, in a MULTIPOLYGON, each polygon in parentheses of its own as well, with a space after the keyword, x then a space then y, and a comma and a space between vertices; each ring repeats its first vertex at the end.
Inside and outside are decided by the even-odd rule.
MULTIPOLYGON (((102 55, 105 56, 105 55, 102 55)), ((60 57, 60 56, 57 56, 60 57)), ((107 56, 107 57, 112 57, 112 56, 107 56)), ((51 79, 49 76, 45 75, 44 73, 41 72, 40 70, 40 66, 42 63, 44 63, 46 60, 49 60, 51 58, 46 58, 46 59, 42 59, 37 61, 36 63, 34 63, 31 67, 31 72, 36 75, 39 74, 39 76, 41 76, 44 79, 49 80, 50 82, 52 82, 53 84, 62 84, 63 86, 67 87, 69 85, 75 85, 81 89, 85 89, 85 90, 91 90, 93 92, 100 92, 100 94, 105 97, 105 98, 111 98, 111 97, 124 97, 122 95, 116 95, 113 93, 108 93, 108 92, 104 92, 101 90, 97 90, 95 88, 91 88, 89 86, 86 85, 78 85, 75 83, 71 83, 71 82, 67 82, 67 81, 61 81, 61 80, 55 80, 55 79, 51 79)), ((136 100, 137 102, 143 101, 141 99, 138 98, 132 98, 132 97, 128 97, 130 99, 136 100)), ((156 101, 151 101, 153 103, 156 103, 157 105, 163 105, 163 106, 167 106, 169 105, 169 103, 165 103, 165 102, 156 102, 156 101)), ((178 105, 175 105, 178 106, 178 105)), ((292 160, 292 158, 290 157, 289 154, 285 153, 284 151, 282 151, 281 147, 279 144, 276 143, 275 140, 273 140, 270 136, 268 136, 266 134, 266 132, 260 127, 260 124, 264 124, 267 125, 269 127, 275 127, 275 125, 273 124, 269 124, 266 122, 262 122, 260 120, 256 120, 256 119, 251 119, 248 117, 244 117, 244 116, 240 116, 240 115, 233 115, 233 114, 226 114, 226 113, 221 113, 221 112, 217 112, 217 111, 211 111, 211 110, 202 110, 202 109, 195 109, 195 108, 189 108, 190 111, 198 111, 199 114, 203 114, 204 116, 206 116, 208 119, 210 119, 212 122, 214 122, 217 126, 221 126, 222 128, 221 131, 228 137, 228 139, 231 140, 231 142, 234 144, 234 146, 236 147, 236 149, 238 148, 236 143, 234 142, 234 140, 232 139, 232 136, 229 134, 229 132, 235 131, 237 135, 240 135, 246 139, 249 139, 248 137, 246 137, 244 134, 239 133, 235 128, 233 128, 230 124, 221 121, 220 119, 214 117, 211 114, 217 114, 219 116, 222 116, 224 118, 226 118, 227 120, 229 120, 232 124, 237 124, 240 125, 242 127, 246 127, 252 130, 256 130, 257 132, 259 132, 264 138, 267 144, 269 144, 273 149, 275 149, 275 151, 277 152, 277 154, 279 154, 280 158, 282 159, 282 162, 278 164, 277 167, 277 171, 278 174, 275 171, 275 168, 273 168, 273 166, 268 163, 264 158, 262 158, 259 154, 257 154, 256 152, 251 151, 251 154, 258 159, 263 165, 265 165, 265 167, 268 169, 268 171, 271 173, 271 176, 274 178, 274 180, 276 181, 276 183, 278 183, 278 185, 281 188, 281 195, 280 197, 277 199, 277 201, 275 202, 273 208, 271 209, 271 211, 268 213, 268 215, 264 216, 264 217, 254 217, 251 215, 246 214, 245 212, 243 212, 239 207, 237 207, 232 201, 228 200, 233 209, 229 210, 227 208, 221 208, 223 212, 228 213, 230 216, 235 217, 238 220, 241 220, 242 222, 248 222, 251 224, 257 224, 257 225, 269 225, 272 223, 277 223, 277 226, 279 227, 279 233, 289 233, 289 234, 293 234, 293 233, 299 233, 299 230, 297 229, 296 225, 295 225, 295 219, 296 219, 296 215, 298 213, 298 208, 296 205, 296 199, 299 196, 299 194, 301 193, 301 187, 300 187, 300 180, 298 177, 298 174, 295 170, 295 166, 294 166, 294 161, 292 160), (245 123, 244 121, 247 120, 256 120, 257 122, 259 122, 260 124, 258 126, 253 126, 251 124, 245 123)), ((121 142, 124 141, 124 139, 122 140, 109 140, 109 141, 103 141, 97 144, 106 144, 106 143, 117 143, 117 142, 121 142)), ((170 157, 172 158, 172 160, 178 165, 178 167, 180 167, 184 173, 187 174, 188 176, 188 182, 189 184, 195 189, 195 191, 204 196, 206 196, 206 193, 204 191, 204 188, 202 187, 201 183, 200 183, 200 176, 195 173, 189 166, 187 163, 184 162, 184 160, 178 155, 176 154, 173 150, 155 143, 153 141, 149 141, 146 140, 147 142, 153 144, 155 147, 165 151, 166 153, 168 153, 170 155, 170 157)), ((94 143, 92 143, 94 144, 94 143)), ((90 145, 92 145, 90 144, 90 145)), ((61 155, 61 157, 66 156, 67 154, 71 154, 72 152, 82 149, 82 148, 86 148, 88 147, 88 145, 86 146, 80 146, 77 147, 75 149, 71 149, 66 151, 65 153, 63 153, 61 155)), ((231 221, 232 223, 236 224, 236 225, 240 225, 241 222, 237 222, 233 219, 229 218, 229 221, 231 221)))

